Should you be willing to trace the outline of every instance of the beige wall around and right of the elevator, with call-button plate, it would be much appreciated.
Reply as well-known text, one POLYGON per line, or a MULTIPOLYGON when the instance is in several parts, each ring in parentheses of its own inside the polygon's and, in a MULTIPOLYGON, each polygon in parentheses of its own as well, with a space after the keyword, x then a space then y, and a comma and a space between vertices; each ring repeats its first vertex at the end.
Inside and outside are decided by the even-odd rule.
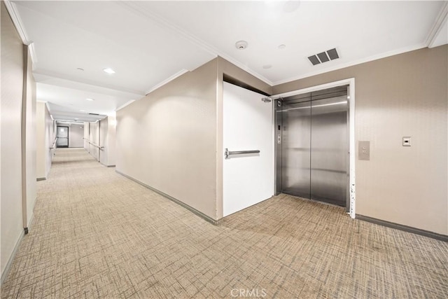
POLYGON ((448 235, 447 60, 448 46, 424 48, 274 86, 355 78, 356 144, 371 146, 356 160, 356 214, 448 235))

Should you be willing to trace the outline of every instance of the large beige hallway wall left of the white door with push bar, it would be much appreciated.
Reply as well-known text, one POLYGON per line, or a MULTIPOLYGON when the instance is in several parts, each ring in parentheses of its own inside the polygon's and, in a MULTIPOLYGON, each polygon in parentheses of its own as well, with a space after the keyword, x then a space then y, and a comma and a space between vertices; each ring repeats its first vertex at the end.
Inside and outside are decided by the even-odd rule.
POLYGON ((217 60, 117 112, 116 169, 216 219, 217 60))

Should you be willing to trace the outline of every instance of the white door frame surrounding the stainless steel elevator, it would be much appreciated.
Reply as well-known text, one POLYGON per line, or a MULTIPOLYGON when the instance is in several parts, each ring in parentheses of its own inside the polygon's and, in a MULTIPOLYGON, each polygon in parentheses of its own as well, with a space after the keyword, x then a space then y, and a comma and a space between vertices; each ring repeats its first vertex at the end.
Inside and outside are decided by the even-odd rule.
MULTIPOLYGON (((347 183, 347 190, 348 190, 348 199, 347 199, 347 210, 350 214, 351 218, 355 218, 356 215, 356 183, 355 183, 355 78, 348 78, 348 79, 344 79, 341 81, 335 81, 332 83, 325 83, 322 85, 316 85, 316 86, 312 86, 310 88, 303 88, 301 90, 293 90, 291 92, 284 92, 281 93, 279 95, 273 95, 272 98, 274 99, 278 99, 280 97, 290 97, 293 95, 300 95, 302 93, 306 93, 306 92, 315 92, 318 90, 324 90, 324 89, 328 89, 328 88, 335 88, 338 86, 343 86, 343 85, 349 85, 348 88, 348 99, 349 99, 349 120, 348 120, 348 125, 349 125, 349 180, 347 183)), ((274 111, 274 113, 276 113, 277 107, 274 111)), ((276 129, 276 128, 274 128, 276 129)), ((274 130, 276 132, 276 130, 274 130)), ((277 162, 277 158, 279 157, 278 155, 278 137, 277 137, 277 133, 275 134, 275 139, 276 141, 276 146, 275 148, 275 153, 274 155, 276 156, 276 159, 274 159, 274 163, 275 163, 275 167, 274 169, 276 170, 276 172, 281 171, 281 169, 279 170, 279 167, 281 167, 281 165, 279 165, 279 163, 277 162)), ((274 174, 274 177, 277 178, 277 174, 274 174)), ((278 182, 275 183, 276 186, 276 194, 278 194, 280 191, 278 190, 279 188, 279 184, 278 182)))

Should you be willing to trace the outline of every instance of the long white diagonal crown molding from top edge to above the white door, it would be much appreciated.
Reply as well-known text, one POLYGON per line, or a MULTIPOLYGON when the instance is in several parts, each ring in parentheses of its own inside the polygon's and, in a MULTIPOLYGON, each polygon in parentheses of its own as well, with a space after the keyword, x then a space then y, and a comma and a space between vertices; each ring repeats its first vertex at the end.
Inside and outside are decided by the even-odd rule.
MULTIPOLYGON (((137 15, 141 15, 144 18, 148 18, 148 19, 152 20, 153 22, 156 22, 161 27, 169 29, 172 32, 174 32, 175 34, 179 34, 184 39, 187 39, 188 41, 194 43, 196 46, 199 46, 200 48, 207 51, 211 55, 223 57, 225 60, 228 60, 228 62, 235 64, 240 69, 247 71, 249 74, 251 74, 255 78, 258 78, 259 80, 263 81, 264 83, 267 83, 268 85, 272 86, 272 84, 273 84, 272 81, 270 81, 269 79, 265 78, 264 76, 258 74, 256 71, 253 71, 252 69, 248 68, 244 63, 241 63, 238 60, 235 60, 234 58, 221 52, 214 46, 211 46, 209 43, 198 38, 194 34, 191 34, 190 32, 187 32, 186 30, 182 29, 181 27, 174 25, 172 22, 169 22, 165 18, 162 18, 160 15, 157 15, 157 14, 153 13, 152 11, 148 11, 147 9, 142 9, 141 6, 139 6, 138 1, 118 1, 117 4, 120 6, 123 6, 124 8, 127 8, 128 10, 132 11, 133 13, 135 13, 137 15)), ((142 38, 144 38, 144 37, 142 36, 142 38)), ((158 86, 158 87, 160 87, 160 86, 158 86)))

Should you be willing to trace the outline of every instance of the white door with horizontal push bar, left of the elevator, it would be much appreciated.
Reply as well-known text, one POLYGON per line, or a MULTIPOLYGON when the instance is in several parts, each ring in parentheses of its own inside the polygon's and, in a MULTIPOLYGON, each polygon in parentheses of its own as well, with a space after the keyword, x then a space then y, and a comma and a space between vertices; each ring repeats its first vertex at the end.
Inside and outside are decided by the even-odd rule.
POLYGON ((274 195, 274 124, 272 102, 237 85, 224 83, 223 145, 228 151, 260 151, 229 155, 223 162, 223 216, 274 195))

